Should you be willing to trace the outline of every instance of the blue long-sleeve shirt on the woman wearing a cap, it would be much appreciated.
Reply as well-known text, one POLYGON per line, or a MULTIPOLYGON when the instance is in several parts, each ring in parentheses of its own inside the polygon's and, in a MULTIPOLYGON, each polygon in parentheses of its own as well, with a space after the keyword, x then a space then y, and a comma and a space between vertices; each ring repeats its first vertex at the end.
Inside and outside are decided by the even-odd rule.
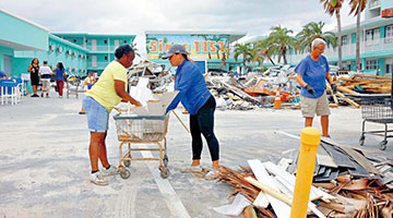
POLYGON ((212 96, 200 69, 187 60, 176 70, 175 90, 179 90, 179 94, 168 106, 167 111, 175 109, 181 101, 190 114, 196 114, 212 96))

